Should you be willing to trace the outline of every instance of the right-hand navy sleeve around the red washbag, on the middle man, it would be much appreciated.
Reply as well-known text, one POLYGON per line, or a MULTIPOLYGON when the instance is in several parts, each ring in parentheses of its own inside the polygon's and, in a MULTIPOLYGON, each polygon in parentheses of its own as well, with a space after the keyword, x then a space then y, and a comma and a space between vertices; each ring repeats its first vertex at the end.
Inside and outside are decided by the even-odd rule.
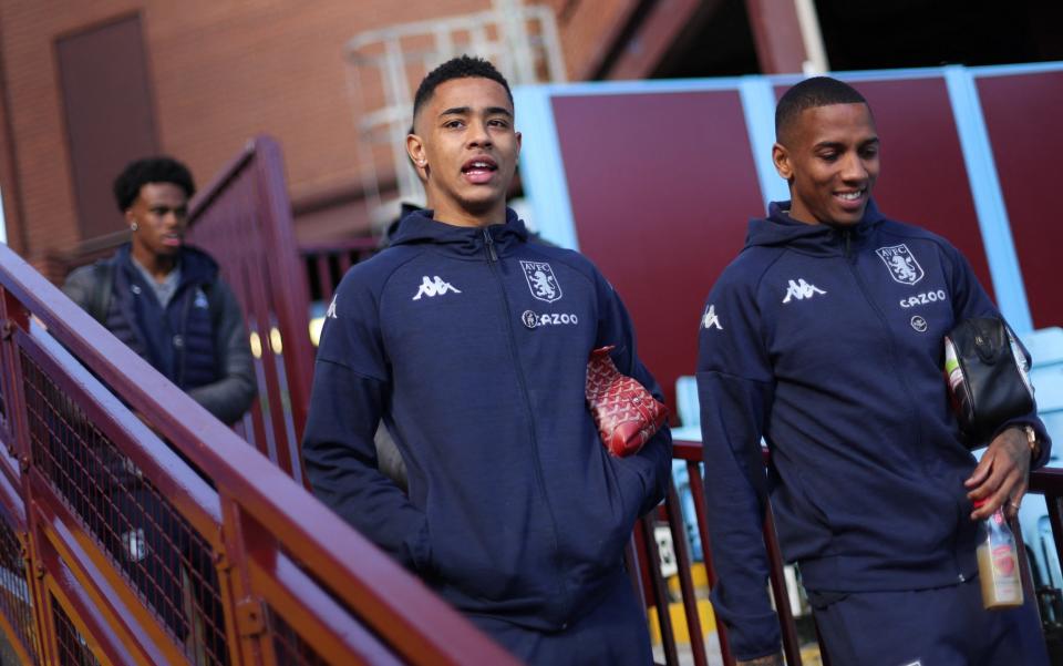
MULTIPOLYGON (((620 300, 620 296, 600 274, 597 274, 598 289, 598 337, 595 348, 615 345, 612 357, 617 369, 633 377, 646 387, 654 398, 664 401, 661 387, 650 375, 636 350, 634 329, 631 317, 620 300)), ((634 455, 620 458, 617 464, 629 465, 642 480, 643 499, 639 509, 642 515, 657 506, 668 492, 672 470, 672 432, 665 423, 650 441, 634 455)))

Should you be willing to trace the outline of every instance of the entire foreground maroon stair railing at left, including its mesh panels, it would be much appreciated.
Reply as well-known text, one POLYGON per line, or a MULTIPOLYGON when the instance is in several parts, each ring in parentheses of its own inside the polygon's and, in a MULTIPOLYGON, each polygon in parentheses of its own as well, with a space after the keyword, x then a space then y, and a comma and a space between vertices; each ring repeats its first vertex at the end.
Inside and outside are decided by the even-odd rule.
POLYGON ((513 663, 2 245, 0 567, 27 664, 513 663))

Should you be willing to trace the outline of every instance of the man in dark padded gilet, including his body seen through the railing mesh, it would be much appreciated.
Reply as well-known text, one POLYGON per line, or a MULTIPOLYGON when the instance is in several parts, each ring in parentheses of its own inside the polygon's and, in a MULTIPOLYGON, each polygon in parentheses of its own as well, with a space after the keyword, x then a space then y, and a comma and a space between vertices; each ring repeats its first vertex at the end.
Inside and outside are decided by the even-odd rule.
MULTIPOLYGON (((195 184, 188 168, 169 157, 131 163, 115 180, 118 209, 131 243, 109 259, 78 268, 63 291, 167 379, 220 421, 231 424, 250 408, 255 368, 244 316, 218 265, 184 244, 188 199, 195 184)), ((186 649, 206 649, 225 660, 217 636, 192 631, 193 622, 223 627, 219 607, 197 607, 216 588, 209 554, 194 531, 169 508, 141 471, 113 445, 52 441, 54 477, 73 485, 72 498, 91 524, 101 516, 103 545, 126 572, 186 649), (81 464, 68 462, 70 458, 81 464), (81 491, 81 492, 79 492, 81 491), (117 515, 115 515, 115 513, 117 515), (195 639, 192 636, 196 636, 195 639), (217 644, 216 644, 217 643, 217 644)), ((93 440, 95 441, 95 440, 93 440)), ((61 483, 62 484, 62 483, 61 483)), ((209 605, 209 604, 208 604, 209 605)))

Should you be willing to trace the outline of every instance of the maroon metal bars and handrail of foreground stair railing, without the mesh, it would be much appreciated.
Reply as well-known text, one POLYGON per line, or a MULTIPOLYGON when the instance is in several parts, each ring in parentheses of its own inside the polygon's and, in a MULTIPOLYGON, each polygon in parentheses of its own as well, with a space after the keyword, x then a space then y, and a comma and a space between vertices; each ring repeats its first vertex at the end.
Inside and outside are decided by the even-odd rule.
POLYGON ((143 592, 93 537, 99 525, 84 523, 35 458, 42 442, 31 442, 25 362, 203 537, 220 581, 230 663, 276 663, 282 636, 274 624, 281 621, 308 654, 336 663, 382 655, 414 664, 514 663, 2 245, 0 296, 0 440, 10 452, 0 457, 0 486, 14 494, 0 492, 0 513, 16 516, 7 527, 27 554, 40 646, 7 631, 12 622, 0 627, 29 663, 39 660, 34 654, 51 660, 72 649, 56 633, 65 622, 80 634, 74 648, 87 646, 103 662, 197 657, 174 644, 143 592))

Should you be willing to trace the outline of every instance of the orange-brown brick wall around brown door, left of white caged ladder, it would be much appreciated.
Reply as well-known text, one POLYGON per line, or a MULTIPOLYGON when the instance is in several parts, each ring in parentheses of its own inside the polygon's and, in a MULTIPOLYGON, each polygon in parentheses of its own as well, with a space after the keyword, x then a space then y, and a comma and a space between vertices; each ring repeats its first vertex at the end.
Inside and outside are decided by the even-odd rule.
POLYGON ((9 218, 9 236, 24 227, 27 246, 20 249, 38 266, 50 252, 82 240, 58 83, 59 37, 141 12, 163 150, 206 184, 248 137, 271 134, 283 147, 298 204, 360 186, 347 40, 489 6, 489 0, 0 0, 13 139, 0 150, 3 158, 14 156, 17 171, 2 186, 10 199, 7 189, 18 182, 21 203, 21 215, 9 218))

